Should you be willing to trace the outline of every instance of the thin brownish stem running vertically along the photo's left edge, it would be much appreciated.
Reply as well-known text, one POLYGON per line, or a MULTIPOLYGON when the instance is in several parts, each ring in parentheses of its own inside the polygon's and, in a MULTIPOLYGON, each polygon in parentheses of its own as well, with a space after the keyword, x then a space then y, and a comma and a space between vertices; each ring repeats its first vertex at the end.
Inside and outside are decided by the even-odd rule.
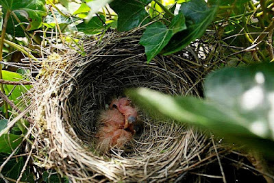
MULTIPOLYGON (((3 29, 2 29, 1 40, 0 40, 0 61, 3 60, 3 45, 4 45, 4 39, 5 39, 5 30, 7 29, 9 17, 10 17, 10 10, 8 10, 7 13, 5 14, 5 19, 3 22, 3 29)), ((0 79, 3 79, 1 64, 0 64, 0 79)), ((1 88, 1 91, 5 93, 3 84, 0 84, 0 88, 1 88)), ((5 100, 3 100, 3 104, 5 107, 5 119, 8 119, 8 103, 5 100)))

